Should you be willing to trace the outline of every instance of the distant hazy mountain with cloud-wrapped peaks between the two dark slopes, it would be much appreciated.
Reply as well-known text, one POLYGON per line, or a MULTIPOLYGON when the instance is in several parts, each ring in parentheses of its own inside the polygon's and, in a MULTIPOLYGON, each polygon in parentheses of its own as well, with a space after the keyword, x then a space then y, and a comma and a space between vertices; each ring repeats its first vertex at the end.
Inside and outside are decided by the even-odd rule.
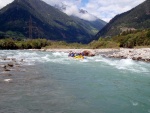
MULTIPOLYGON (((54 7, 59 9, 60 11, 62 11, 64 13, 70 9, 69 8, 70 6, 67 6, 63 3, 61 3, 59 5, 54 5, 54 7)), ((70 17, 74 21, 76 21, 77 23, 82 25, 82 27, 84 27, 84 29, 86 29, 92 35, 97 34, 99 32, 99 30, 101 30, 107 24, 105 21, 103 21, 103 20, 99 19, 98 17, 88 13, 84 9, 78 9, 77 14, 71 15, 70 17), (92 18, 92 20, 84 18, 86 16, 89 16, 90 18, 92 18)))

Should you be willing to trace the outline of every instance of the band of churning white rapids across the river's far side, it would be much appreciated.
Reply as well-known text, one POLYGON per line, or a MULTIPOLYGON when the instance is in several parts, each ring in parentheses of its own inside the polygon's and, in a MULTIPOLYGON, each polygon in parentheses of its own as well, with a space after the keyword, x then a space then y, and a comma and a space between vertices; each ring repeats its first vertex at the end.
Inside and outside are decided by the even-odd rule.
POLYGON ((118 70, 131 71, 134 73, 149 73, 150 63, 133 61, 132 59, 112 59, 104 58, 101 55, 95 57, 85 57, 83 60, 77 60, 68 57, 65 52, 39 52, 27 50, 4 50, 0 51, 0 62, 6 62, 2 58, 14 58, 18 61, 22 60, 22 65, 36 65, 36 63, 58 63, 65 65, 94 65, 110 66, 118 70))

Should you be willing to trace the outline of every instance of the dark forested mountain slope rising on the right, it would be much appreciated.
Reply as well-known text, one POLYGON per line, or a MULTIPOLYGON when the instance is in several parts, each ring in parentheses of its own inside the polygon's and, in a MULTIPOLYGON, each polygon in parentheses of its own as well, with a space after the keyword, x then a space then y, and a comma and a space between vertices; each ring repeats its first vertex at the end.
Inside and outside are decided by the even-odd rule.
POLYGON ((127 30, 147 28, 150 28, 150 0, 115 16, 95 37, 98 39, 101 36, 115 36, 127 30))

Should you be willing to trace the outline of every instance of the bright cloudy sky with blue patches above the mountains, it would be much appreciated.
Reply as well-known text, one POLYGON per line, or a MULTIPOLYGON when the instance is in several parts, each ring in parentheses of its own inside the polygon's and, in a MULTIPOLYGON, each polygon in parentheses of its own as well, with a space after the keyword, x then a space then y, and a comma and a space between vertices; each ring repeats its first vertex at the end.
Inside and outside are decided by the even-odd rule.
MULTIPOLYGON (((13 0, 0 0, 0 8, 13 0)), ((50 5, 67 5, 64 12, 68 15, 78 16, 82 19, 94 21, 96 18, 90 14, 109 22, 117 14, 126 12, 145 0, 43 0, 50 5), (78 9, 84 9, 90 14, 81 15, 78 9)))

